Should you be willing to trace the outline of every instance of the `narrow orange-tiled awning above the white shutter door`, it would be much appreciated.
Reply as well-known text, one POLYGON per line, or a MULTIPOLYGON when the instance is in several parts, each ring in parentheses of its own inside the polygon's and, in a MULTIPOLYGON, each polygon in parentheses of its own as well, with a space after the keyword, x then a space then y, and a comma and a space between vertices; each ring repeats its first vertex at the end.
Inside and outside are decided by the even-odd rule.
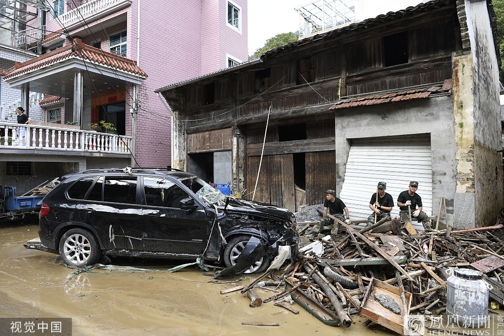
MULTIPOLYGON (((447 81, 450 81, 450 80, 447 80, 447 81)), ((445 86, 448 87, 446 81, 445 81, 445 85, 443 86, 443 88, 445 86)), ((430 88, 409 89, 406 91, 386 93, 383 95, 374 94, 374 95, 369 95, 369 96, 364 96, 364 97, 343 99, 343 100, 336 102, 329 109, 335 110, 335 109, 346 108, 346 107, 383 104, 383 103, 388 103, 391 101, 395 102, 395 101, 405 101, 405 100, 418 99, 418 98, 427 98, 428 96, 430 96, 430 94, 432 94, 438 90, 442 90, 442 88, 440 86, 432 86, 430 88)), ((444 88, 443 90, 447 90, 447 89, 444 88)))

